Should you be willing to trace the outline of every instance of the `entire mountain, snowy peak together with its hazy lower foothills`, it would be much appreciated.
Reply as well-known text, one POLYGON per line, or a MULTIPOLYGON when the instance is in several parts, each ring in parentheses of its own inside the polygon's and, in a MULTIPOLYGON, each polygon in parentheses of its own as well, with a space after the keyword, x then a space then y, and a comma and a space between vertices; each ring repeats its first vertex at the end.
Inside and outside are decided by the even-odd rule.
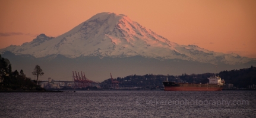
POLYGON ((157 35, 125 15, 103 12, 60 35, 40 34, 23 45, 3 48, 12 69, 27 76, 39 64, 42 80, 72 79, 72 71, 84 71, 86 77, 103 81, 129 74, 217 73, 256 65, 255 58, 204 50, 197 45, 179 45, 157 35), (216 66, 218 68, 216 68, 216 66))

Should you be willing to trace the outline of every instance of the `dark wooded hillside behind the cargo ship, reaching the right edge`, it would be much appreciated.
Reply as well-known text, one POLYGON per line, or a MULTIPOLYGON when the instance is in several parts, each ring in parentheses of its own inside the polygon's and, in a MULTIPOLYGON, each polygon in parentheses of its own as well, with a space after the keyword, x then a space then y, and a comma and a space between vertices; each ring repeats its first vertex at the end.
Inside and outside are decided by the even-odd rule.
MULTIPOLYGON (((208 77, 219 76, 226 83, 231 83, 239 88, 246 88, 248 85, 256 84, 256 68, 244 68, 240 70, 220 71, 220 73, 203 73, 203 74, 182 74, 180 76, 170 75, 154 75, 146 74, 143 76, 131 75, 126 77, 117 77, 114 80, 119 81, 119 87, 141 87, 141 88, 156 88, 163 87, 163 81, 173 81, 176 83, 208 83, 208 77)), ((102 86, 110 87, 111 79, 102 82, 102 86)))

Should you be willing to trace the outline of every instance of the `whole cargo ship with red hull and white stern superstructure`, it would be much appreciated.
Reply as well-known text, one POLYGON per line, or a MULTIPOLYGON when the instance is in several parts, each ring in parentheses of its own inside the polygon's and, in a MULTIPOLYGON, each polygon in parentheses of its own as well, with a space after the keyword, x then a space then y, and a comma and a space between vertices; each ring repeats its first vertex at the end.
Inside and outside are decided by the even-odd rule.
POLYGON ((163 81, 165 91, 221 91, 225 85, 225 81, 220 77, 212 76, 208 78, 207 84, 194 84, 194 83, 175 83, 170 82, 168 79, 163 81))

